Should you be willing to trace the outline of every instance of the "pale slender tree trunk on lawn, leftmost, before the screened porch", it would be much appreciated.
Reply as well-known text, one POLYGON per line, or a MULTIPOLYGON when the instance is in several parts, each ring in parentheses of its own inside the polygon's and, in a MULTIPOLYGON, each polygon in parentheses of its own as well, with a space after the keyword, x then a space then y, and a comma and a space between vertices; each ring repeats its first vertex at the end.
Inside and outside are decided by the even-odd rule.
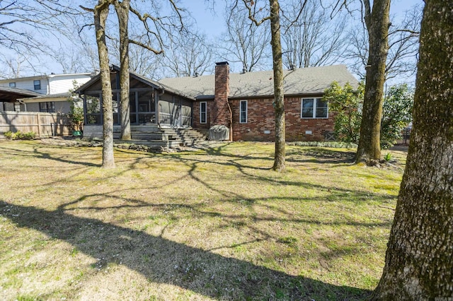
POLYGON ((110 67, 108 50, 105 43, 105 21, 108 16, 108 1, 99 1, 94 8, 94 25, 96 43, 98 44, 99 67, 101 70, 102 107, 103 107, 103 148, 102 167, 115 167, 113 158, 113 103, 112 85, 110 83, 110 67))

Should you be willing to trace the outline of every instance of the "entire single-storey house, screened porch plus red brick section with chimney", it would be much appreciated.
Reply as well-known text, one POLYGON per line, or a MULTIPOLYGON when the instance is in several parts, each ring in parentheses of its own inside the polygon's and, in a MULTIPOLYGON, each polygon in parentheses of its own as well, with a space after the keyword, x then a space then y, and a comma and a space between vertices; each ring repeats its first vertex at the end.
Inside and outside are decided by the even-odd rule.
MULTIPOLYGON (((119 124, 119 69, 111 69, 114 122, 119 124)), ((323 141, 333 132, 333 114, 322 101, 333 81, 358 85, 346 66, 284 71, 287 141, 323 141)), ((215 74, 151 81, 130 73, 130 119, 140 126, 232 129, 234 141, 273 141, 273 71, 229 73, 229 64, 216 64, 215 74)), ((101 81, 94 77, 76 92, 84 95, 84 131, 101 134, 101 81)), ((85 133, 84 133, 85 134, 85 133)))

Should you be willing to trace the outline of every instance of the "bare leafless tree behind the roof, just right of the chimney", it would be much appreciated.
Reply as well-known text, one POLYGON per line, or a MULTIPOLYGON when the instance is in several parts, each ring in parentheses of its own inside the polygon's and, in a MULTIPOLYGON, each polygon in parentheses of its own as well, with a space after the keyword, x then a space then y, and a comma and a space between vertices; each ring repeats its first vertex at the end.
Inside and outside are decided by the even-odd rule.
MULTIPOLYGON (((251 5, 253 10, 256 6, 251 5)), ((252 11, 257 13, 257 11, 252 11)), ((270 30, 266 26, 256 26, 248 18, 248 9, 237 1, 225 8, 226 34, 220 55, 226 60, 242 65, 243 71, 256 71, 268 66, 270 58, 270 30)))

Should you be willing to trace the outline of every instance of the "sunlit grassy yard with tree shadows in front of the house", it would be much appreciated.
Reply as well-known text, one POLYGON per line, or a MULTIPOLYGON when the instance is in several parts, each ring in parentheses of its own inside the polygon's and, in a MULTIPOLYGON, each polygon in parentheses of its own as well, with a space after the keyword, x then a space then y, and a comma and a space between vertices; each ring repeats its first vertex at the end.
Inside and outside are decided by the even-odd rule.
POLYGON ((222 143, 178 153, 0 141, 2 300, 365 300, 406 153, 222 143))

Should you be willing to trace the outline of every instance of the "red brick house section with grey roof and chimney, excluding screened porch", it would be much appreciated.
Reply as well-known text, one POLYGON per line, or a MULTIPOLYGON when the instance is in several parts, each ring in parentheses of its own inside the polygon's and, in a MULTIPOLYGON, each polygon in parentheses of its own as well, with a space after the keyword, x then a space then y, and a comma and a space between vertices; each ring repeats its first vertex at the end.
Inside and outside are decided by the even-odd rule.
MULTIPOLYGON (((284 71, 287 141, 324 141, 333 132, 333 114, 322 101, 333 81, 357 86, 345 65, 284 71)), ((273 141, 273 71, 229 73, 229 64, 216 64, 215 74, 164 78, 159 83, 195 99, 192 127, 224 125, 234 141, 273 141)))

